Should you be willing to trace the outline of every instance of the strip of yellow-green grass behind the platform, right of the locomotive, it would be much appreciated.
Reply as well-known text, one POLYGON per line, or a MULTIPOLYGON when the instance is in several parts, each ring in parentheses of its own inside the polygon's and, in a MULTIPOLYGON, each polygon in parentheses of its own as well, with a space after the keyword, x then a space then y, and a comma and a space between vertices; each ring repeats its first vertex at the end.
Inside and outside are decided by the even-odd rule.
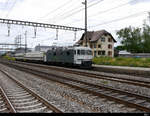
POLYGON ((97 64, 97 65, 130 66, 130 67, 150 68, 150 58, 96 57, 96 58, 93 58, 93 63, 97 64))

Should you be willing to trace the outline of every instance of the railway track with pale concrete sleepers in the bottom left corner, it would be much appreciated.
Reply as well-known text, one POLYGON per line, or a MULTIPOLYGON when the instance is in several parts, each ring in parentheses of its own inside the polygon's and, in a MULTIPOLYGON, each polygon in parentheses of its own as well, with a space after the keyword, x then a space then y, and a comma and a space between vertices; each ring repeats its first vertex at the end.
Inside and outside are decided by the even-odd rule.
POLYGON ((3 82, 7 86, 5 86, 5 89, 3 90, 3 92, 2 91, 1 92, 5 94, 5 97, 7 97, 7 100, 9 101, 9 103, 3 103, 4 106, 7 106, 2 109, 3 112, 62 113, 59 109, 51 105, 47 100, 35 94, 35 92, 26 88, 23 84, 18 82, 8 72, 2 71, 2 70, 1 72, 7 77, 7 81, 3 82), (5 105, 5 104, 9 104, 9 107, 8 105, 5 105))

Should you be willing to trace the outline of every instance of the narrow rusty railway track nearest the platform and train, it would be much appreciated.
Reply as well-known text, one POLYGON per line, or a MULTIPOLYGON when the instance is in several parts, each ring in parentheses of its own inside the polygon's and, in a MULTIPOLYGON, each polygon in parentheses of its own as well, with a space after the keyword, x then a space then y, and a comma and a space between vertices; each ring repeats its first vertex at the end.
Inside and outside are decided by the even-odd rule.
POLYGON ((69 74, 76 74, 76 75, 81 75, 81 76, 86 76, 86 77, 91 77, 91 78, 96 78, 96 79, 105 79, 109 81, 115 81, 115 82, 120 82, 120 83, 126 83, 126 84, 131 84, 135 86, 140 86, 140 87, 147 87, 150 88, 150 81, 142 81, 142 80, 135 80, 135 79, 127 79, 127 78, 122 78, 122 77, 113 77, 113 76, 106 76, 102 74, 94 74, 91 72, 85 73, 84 70, 78 71, 78 70, 71 70, 67 68, 58 68, 58 67, 50 67, 50 66, 45 66, 45 65, 37 65, 33 63, 24 63, 24 62, 16 62, 19 64, 24 64, 24 65, 30 65, 30 66, 38 66, 39 68, 44 68, 44 69, 49 69, 49 70, 55 70, 55 71, 61 71, 69 74))

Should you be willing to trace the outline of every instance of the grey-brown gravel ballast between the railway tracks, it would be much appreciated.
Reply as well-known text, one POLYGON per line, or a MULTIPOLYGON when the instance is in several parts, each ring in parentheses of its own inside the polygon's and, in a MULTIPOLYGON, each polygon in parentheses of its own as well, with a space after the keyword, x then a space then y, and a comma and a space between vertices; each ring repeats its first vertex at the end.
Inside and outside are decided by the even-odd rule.
MULTIPOLYGON (((55 83, 52 81, 47 81, 45 79, 38 78, 36 76, 17 71, 15 69, 0 65, 3 70, 11 73, 15 78, 24 83, 30 89, 36 91, 38 94, 46 98, 48 101, 56 105, 64 112, 135 112, 135 109, 122 107, 121 104, 113 103, 104 98, 99 98, 96 96, 88 95, 84 92, 74 90, 68 86, 55 83)), ((49 71, 50 72, 50 71, 49 71)), ((51 71, 51 73, 56 73, 58 75, 64 75, 68 78, 83 79, 87 82, 102 84, 104 80, 92 79, 83 76, 75 76, 71 74, 66 74, 62 72, 51 71), (91 81, 92 80, 92 81, 91 81), (101 82, 102 81, 102 82, 101 82)), ((104 84, 105 85, 105 84, 104 84)), ((107 85, 117 86, 118 83, 107 82, 107 85), (109 84, 110 83, 110 84, 109 84), (111 85, 112 84, 112 85, 111 85)), ((124 86, 120 84, 120 86, 124 86)), ((126 88, 127 86, 125 86, 126 88)), ((129 87, 129 86, 128 86, 129 87)), ((122 88, 122 87, 121 87, 122 88)), ((133 89, 133 88, 132 88, 133 89)), ((146 90, 147 92, 147 90, 146 90)))

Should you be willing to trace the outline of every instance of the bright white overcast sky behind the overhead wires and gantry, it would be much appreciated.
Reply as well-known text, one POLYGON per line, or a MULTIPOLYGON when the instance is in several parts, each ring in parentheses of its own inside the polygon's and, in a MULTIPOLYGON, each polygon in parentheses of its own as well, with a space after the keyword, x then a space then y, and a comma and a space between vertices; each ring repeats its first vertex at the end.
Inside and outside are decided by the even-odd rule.
MULTIPOLYGON (((88 30, 105 29, 118 41, 116 31, 128 26, 141 27, 144 19, 149 23, 148 12, 150 0, 87 0, 88 1, 88 30)), ((41 23, 73 26, 84 28, 84 0, 0 0, 0 18, 34 21, 41 23)), ((28 46, 41 45, 72 45, 80 39, 83 31, 74 32, 37 28, 34 38, 34 28, 11 25, 10 37, 7 36, 7 25, 0 24, 0 43, 14 43, 14 38, 27 31, 28 46)))

